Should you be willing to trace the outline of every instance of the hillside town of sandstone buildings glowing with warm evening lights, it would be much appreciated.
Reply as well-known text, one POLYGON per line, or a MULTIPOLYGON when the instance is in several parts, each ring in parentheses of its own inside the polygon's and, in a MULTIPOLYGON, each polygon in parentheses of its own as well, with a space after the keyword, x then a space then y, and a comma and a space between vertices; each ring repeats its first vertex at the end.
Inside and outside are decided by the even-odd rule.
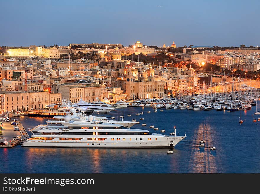
POLYGON ((258 46, 177 47, 173 42, 158 48, 137 41, 128 47, 71 43, 0 49, 1 113, 25 113, 63 100, 115 103, 176 97, 231 77, 259 85, 258 46))

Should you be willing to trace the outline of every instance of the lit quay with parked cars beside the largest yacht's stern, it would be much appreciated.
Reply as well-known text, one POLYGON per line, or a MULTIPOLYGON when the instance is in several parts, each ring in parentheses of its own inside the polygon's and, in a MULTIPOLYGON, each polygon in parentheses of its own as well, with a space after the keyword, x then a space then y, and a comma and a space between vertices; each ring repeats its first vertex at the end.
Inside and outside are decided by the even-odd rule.
POLYGON ((2 134, 0 135, 0 142, 4 142, 4 141, 7 142, 7 144, 5 145, 0 145, 0 148, 14 147, 30 137, 19 120, 14 119, 14 120, 10 120, 9 122, 3 121, 2 125, 0 126, 2 127, 1 130, 2 133, 0 133, 2 134), (17 122, 20 131, 14 131, 14 127, 13 127, 14 125, 11 124, 12 121, 17 122), (18 135, 21 136, 22 138, 20 138, 19 140, 13 140, 13 138, 17 137, 18 135))

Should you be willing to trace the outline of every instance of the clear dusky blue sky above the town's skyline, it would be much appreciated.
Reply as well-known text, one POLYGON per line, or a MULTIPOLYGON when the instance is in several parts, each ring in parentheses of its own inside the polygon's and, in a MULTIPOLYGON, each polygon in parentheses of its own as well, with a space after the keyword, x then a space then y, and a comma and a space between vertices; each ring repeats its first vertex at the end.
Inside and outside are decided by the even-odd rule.
POLYGON ((260 46, 258 0, 0 0, 0 46, 260 46))

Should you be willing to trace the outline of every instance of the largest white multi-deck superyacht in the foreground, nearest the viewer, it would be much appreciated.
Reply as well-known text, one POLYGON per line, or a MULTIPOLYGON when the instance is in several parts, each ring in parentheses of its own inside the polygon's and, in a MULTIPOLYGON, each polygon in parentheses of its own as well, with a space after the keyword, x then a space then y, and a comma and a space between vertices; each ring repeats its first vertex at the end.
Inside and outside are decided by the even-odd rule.
POLYGON ((69 115, 62 123, 64 128, 43 128, 23 142, 22 146, 36 147, 87 147, 87 148, 173 148, 184 136, 167 136, 148 130, 125 128, 123 125, 71 121, 69 115))

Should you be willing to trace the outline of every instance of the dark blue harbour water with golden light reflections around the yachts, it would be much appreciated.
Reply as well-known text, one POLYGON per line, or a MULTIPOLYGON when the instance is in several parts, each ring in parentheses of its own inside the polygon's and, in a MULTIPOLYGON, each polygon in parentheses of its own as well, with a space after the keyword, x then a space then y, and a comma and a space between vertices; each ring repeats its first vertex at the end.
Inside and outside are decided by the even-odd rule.
MULTIPOLYGON (((160 133, 173 132, 187 138, 166 154, 168 149, 89 149, 21 147, 0 149, 0 173, 260 173, 260 125, 253 122, 252 110, 193 111, 127 107, 105 115, 124 120, 144 118, 132 128, 155 125, 160 133), (151 111, 151 113, 146 113, 151 111), (136 113, 144 112, 136 116, 136 113), (127 115, 131 114, 131 117, 127 115), (244 123, 238 123, 239 117, 244 123), (141 126, 146 123, 147 126, 141 126), (205 147, 198 147, 204 139, 205 147), (216 150, 210 151, 209 147, 216 150)), ((253 118, 254 117, 254 118, 253 118)), ((260 117, 260 115, 259 115, 260 117)), ((25 128, 44 124, 47 118, 19 117, 25 128)))

